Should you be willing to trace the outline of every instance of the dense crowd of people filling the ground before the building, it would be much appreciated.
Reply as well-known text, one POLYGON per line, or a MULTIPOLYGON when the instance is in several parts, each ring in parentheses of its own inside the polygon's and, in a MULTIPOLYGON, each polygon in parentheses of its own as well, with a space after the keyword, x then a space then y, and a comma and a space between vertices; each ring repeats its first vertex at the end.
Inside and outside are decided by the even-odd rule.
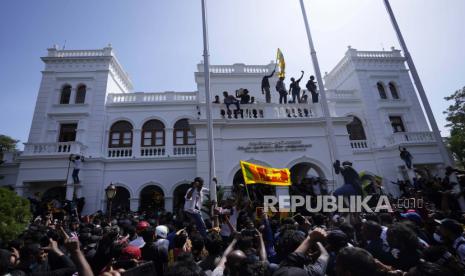
MULTIPOLYGON (((348 166, 335 164, 353 181, 348 166)), ((450 173, 459 183, 424 173, 404 196, 425 204, 392 213, 266 213, 241 186, 202 214, 201 178, 175 214, 45 211, 2 241, 0 275, 464 275, 465 217, 447 191, 465 177, 450 173)))

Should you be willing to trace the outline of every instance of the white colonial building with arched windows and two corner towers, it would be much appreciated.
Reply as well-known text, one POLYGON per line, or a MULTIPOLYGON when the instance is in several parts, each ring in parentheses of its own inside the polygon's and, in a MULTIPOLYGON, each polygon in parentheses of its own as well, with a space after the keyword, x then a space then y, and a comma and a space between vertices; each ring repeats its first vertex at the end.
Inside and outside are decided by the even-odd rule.
MULTIPOLYGON (((45 69, 24 151, 5 154, 0 185, 18 194, 86 198, 85 212, 105 209, 105 188, 118 187, 115 204, 179 206, 186 184, 207 179, 208 152, 203 65, 194 73, 192 92, 134 92, 112 48, 48 49, 45 69), (85 156, 81 184, 73 186, 70 154, 85 156), (153 202, 155 202, 153 204, 153 202), (150 205, 152 204, 152 205, 150 205)), ((332 170, 320 103, 277 103, 276 75, 270 79, 272 103, 260 91, 262 77, 275 64, 212 65, 211 91, 246 88, 255 103, 243 116, 228 116, 213 104, 216 170, 220 185, 238 181, 239 160, 290 168, 294 182, 308 175, 342 179, 332 170)), ((306 80, 302 81, 302 85, 306 80)), ((349 47, 325 75, 328 105, 341 161, 390 181, 408 177, 398 147, 407 147, 415 166, 441 168, 442 159, 422 112, 399 50, 367 52, 349 47)), ((307 92, 308 93, 308 92, 307 92)), ((309 97, 311 98, 311 97, 309 97)), ((297 185, 297 183, 295 183, 297 185)))

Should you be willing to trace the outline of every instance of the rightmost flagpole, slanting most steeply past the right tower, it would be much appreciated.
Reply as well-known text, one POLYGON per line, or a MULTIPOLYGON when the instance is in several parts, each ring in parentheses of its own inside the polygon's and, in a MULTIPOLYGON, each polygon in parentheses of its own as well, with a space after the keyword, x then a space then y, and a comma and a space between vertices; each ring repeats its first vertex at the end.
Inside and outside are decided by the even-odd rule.
POLYGON ((399 25, 397 24, 397 20, 394 16, 394 12, 392 11, 391 4, 389 0, 384 0, 384 5, 386 6, 386 10, 389 14, 389 18, 391 19, 392 26, 396 31, 397 39, 399 40, 400 46, 404 51, 405 59, 407 60, 408 67, 410 69, 410 73, 412 74, 413 81, 415 86, 417 87, 418 94, 420 95, 421 102, 423 107, 425 108, 426 116, 428 117, 428 121, 431 125, 431 129, 433 130, 434 138, 438 144, 439 152, 441 153, 442 159, 444 160, 444 164, 446 166, 453 166, 453 161, 451 160, 449 153, 447 152, 446 146, 444 145, 441 137, 441 132, 439 131, 438 124, 436 123, 436 119, 434 118, 433 111, 431 106, 428 102, 428 98, 426 97, 425 89, 423 88, 423 84, 421 83, 420 76, 418 75, 417 68, 413 63, 412 56, 407 49, 407 44, 405 43, 404 37, 400 31, 399 25))

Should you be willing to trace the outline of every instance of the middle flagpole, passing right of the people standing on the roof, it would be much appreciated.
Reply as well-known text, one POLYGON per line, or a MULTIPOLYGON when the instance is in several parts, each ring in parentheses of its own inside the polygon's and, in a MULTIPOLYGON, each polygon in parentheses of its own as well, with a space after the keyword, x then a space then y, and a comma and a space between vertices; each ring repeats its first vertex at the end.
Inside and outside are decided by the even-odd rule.
MULTIPOLYGON (((303 0, 300 0, 300 8, 302 9, 302 16, 305 22, 305 30, 307 31, 308 46, 310 47, 313 70, 315 71, 316 80, 318 82, 318 90, 321 96, 321 107, 323 109, 323 116, 325 118, 326 131, 329 136, 330 155, 332 155, 331 161, 334 161, 339 159, 339 153, 336 146, 336 135, 334 134, 333 122, 331 119, 331 115, 329 114, 328 102, 326 101, 325 86, 323 83, 323 78, 321 77, 320 65, 318 63, 318 57, 316 56, 315 46, 313 45, 312 34, 310 33, 307 12, 305 11, 303 0)), ((333 164, 330 165, 330 167, 332 166, 333 164)), ((337 183, 337 177, 334 179, 334 181, 337 183)))

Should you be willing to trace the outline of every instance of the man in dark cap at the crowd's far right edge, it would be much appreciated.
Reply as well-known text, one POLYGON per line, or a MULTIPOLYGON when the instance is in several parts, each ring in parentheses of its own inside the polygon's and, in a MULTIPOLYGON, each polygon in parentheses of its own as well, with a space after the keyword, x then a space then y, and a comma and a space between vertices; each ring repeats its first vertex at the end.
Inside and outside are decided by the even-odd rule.
POLYGON ((454 219, 443 219, 437 222, 440 223, 439 233, 444 242, 452 247, 462 264, 465 264, 465 238, 463 237, 462 224, 454 219))

